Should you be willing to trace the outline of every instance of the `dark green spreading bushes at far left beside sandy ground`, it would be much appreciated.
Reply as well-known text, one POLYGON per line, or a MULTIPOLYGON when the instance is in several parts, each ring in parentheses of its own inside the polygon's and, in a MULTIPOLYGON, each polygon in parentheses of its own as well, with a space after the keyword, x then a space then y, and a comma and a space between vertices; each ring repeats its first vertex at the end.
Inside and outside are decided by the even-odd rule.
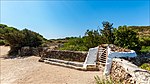
POLYGON ((0 27, 0 39, 5 40, 11 46, 10 55, 17 54, 21 47, 37 47, 45 41, 43 36, 28 29, 20 31, 3 24, 0 24, 0 27))

